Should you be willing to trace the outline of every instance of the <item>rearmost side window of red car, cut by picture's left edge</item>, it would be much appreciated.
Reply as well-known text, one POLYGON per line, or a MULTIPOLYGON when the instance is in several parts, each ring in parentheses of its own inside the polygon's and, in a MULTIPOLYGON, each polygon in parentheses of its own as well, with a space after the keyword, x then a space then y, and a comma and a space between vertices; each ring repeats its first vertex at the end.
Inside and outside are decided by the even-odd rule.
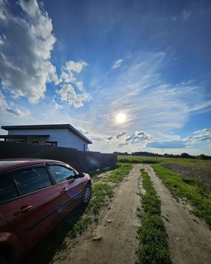
POLYGON ((11 175, 0 178, 0 203, 18 197, 11 175))

